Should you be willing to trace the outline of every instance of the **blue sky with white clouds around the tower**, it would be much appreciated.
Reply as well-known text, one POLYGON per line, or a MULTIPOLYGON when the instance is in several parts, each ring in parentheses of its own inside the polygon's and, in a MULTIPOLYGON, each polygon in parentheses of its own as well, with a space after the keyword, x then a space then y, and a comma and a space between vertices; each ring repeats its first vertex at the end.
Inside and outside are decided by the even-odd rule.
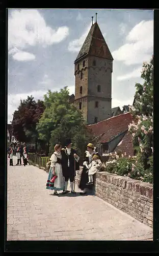
POLYGON ((143 61, 153 54, 153 10, 9 9, 8 123, 20 99, 48 90, 74 93, 74 60, 92 16, 112 53, 112 108, 133 104, 143 61))

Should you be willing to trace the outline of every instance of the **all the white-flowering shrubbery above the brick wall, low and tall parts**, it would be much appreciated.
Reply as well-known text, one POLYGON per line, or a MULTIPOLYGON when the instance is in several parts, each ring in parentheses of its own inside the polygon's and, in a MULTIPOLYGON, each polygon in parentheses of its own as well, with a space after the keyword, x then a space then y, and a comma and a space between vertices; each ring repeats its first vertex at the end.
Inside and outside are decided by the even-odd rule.
POLYGON ((141 78, 136 83, 135 104, 129 106, 133 122, 128 131, 133 136, 135 156, 119 152, 110 153, 105 170, 144 182, 153 182, 153 56, 150 63, 143 63, 141 78))

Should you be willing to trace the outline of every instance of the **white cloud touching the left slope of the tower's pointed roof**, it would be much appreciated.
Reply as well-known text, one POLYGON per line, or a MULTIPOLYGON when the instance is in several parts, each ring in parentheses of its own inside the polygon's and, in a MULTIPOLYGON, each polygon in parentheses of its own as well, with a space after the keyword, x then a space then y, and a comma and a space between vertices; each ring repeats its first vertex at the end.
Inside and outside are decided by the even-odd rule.
POLYGON ((80 38, 69 42, 68 50, 70 52, 79 52, 81 50, 81 47, 83 46, 84 41, 91 29, 91 26, 92 26, 92 23, 87 27, 84 34, 80 38))

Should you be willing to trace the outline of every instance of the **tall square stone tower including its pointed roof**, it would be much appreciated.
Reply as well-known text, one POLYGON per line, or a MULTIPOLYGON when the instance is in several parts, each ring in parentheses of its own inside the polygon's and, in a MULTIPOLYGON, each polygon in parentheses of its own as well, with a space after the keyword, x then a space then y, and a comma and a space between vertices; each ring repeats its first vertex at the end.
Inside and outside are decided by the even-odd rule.
POLYGON ((87 124, 111 117, 113 57, 97 22, 74 61, 74 105, 87 124))

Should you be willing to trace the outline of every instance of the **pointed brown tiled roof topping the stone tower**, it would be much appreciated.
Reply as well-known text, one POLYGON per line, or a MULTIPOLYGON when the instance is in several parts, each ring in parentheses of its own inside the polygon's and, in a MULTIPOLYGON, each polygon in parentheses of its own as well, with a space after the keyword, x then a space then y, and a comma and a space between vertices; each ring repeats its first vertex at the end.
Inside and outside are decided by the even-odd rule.
POLYGON ((113 60, 112 54, 107 43, 105 42, 97 22, 91 26, 84 44, 74 62, 88 54, 113 60))

